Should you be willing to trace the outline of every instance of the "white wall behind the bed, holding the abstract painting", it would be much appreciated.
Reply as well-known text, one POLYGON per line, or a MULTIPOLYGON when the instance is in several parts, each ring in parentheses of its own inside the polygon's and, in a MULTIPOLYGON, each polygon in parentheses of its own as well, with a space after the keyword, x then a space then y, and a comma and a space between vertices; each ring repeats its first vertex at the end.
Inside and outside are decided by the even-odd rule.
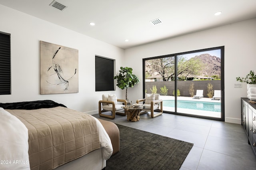
POLYGON ((50 22, 0 5, 0 32, 11 34, 12 94, 0 103, 50 99, 71 109, 98 113, 103 93, 120 98, 124 91, 95 92, 95 55, 116 59, 122 66, 124 49, 84 36, 50 22), (40 95, 40 40, 78 49, 79 93, 40 95))

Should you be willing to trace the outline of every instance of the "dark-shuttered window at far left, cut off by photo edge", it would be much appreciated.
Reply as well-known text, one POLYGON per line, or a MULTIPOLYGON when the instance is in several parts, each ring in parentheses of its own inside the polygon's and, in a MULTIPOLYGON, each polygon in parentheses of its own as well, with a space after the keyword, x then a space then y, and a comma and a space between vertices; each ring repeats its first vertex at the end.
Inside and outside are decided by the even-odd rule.
POLYGON ((0 95, 11 94, 10 34, 0 32, 0 95))

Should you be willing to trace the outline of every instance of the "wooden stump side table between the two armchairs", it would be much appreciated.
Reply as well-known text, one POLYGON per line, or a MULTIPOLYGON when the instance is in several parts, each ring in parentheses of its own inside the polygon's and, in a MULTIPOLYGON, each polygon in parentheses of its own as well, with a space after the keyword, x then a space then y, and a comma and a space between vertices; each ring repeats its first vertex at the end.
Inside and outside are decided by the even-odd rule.
POLYGON ((128 106, 121 106, 127 115, 127 121, 137 122, 140 121, 140 111, 145 109, 145 106, 140 107, 128 107, 128 106))

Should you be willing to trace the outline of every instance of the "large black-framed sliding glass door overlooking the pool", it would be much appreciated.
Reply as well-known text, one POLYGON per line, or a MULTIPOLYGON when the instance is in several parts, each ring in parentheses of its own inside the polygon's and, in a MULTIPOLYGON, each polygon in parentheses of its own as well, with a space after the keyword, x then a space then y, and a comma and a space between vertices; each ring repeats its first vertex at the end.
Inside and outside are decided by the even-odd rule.
POLYGON ((224 121, 224 47, 143 59, 144 91, 164 112, 224 121))

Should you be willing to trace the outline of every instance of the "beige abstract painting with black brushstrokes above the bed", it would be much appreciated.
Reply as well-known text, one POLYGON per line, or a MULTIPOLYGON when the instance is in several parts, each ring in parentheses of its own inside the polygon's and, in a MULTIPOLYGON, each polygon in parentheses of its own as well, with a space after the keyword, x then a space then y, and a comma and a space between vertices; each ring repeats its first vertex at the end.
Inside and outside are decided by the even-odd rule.
POLYGON ((78 50, 40 41, 41 94, 78 93, 78 50))

